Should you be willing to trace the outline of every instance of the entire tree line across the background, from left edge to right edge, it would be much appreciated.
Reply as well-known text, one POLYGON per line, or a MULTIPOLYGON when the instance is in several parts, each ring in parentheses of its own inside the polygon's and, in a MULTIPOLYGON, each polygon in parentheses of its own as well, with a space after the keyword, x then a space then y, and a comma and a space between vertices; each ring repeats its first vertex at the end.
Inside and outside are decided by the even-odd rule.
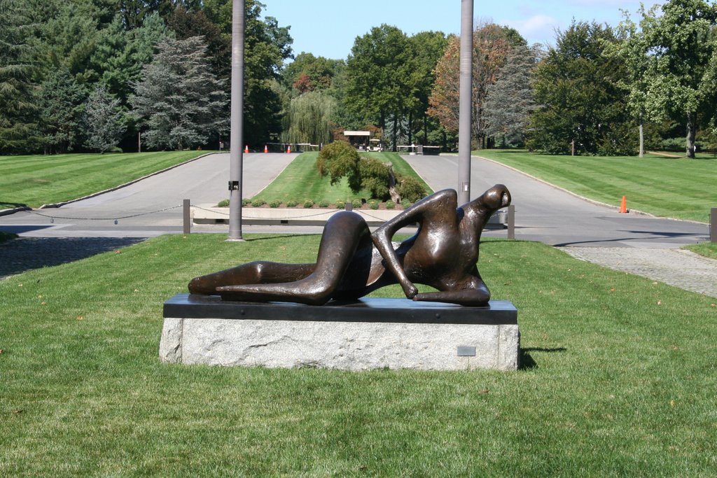
MULTIPOLYGON (((245 0, 244 139, 455 147, 459 39, 381 24, 346 59, 294 56, 290 27, 245 0), (293 61, 289 61, 289 60, 293 61)), ((231 0, 0 0, 0 153, 214 147, 228 135, 231 0), (214 146, 213 146, 214 145, 214 146)), ((671 0, 555 45, 483 22, 476 148, 629 155, 717 143, 717 6, 671 0)))

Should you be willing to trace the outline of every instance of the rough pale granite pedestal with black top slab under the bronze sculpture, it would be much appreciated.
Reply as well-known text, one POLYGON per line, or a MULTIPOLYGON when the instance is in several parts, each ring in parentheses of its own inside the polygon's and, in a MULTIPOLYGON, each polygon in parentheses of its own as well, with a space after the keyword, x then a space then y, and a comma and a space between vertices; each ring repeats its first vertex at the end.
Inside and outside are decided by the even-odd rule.
POLYGON ((516 370, 511 302, 462 307, 405 299, 230 302, 178 294, 164 304, 159 355, 171 363, 341 370, 516 370))

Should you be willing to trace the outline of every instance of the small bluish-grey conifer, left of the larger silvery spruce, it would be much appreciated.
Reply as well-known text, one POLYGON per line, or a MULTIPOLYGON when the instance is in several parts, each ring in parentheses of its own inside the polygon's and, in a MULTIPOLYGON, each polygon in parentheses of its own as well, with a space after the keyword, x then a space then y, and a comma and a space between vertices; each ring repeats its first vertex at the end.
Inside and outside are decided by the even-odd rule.
POLYGON ((96 87, 87 99, 82 126, 87 148, 100 153, 114 148, 127 128, 120 100, 111 97, 106 87, 96 87))

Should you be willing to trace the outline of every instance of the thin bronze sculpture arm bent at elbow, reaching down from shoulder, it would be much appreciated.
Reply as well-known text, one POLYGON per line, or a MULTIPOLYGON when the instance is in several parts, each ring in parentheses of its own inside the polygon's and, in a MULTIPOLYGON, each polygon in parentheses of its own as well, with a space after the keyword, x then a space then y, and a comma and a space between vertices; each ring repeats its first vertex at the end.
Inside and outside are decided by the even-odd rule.
MULTIPOLYGON (((386 269, 388 269, 397 278, 401 285, 404 294, 409 299, 412 299, 417 295, 418 289, 408 278, 406 271, 404 270, 402 262, 399 260, 393 245, 391 244, 391 238, 394 234, 404 226, 413 224, 414 222, 419 223, 419 227, 424 226, 424 219, 428 212, 436 213, 440 215, 440 210, 446 207, 452 211, 455 211, 457 204, 457 193, 452 189, 445 189, 433 193, 431 196, 418 201, 413 206, 406 209, 401 214, 398 214, 393 219, 386 221, 379 229, 376 229, 371 234, 371 239, 374 241, 374 246, 379 250, 381 257, 384 258, 386 269)), ((452 213, 453 214, 453 213, 452 213)))

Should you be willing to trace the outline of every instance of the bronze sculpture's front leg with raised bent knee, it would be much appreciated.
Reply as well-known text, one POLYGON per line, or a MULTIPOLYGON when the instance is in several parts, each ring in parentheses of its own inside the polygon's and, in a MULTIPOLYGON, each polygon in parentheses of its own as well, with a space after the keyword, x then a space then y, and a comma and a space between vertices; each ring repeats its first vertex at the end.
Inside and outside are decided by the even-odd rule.
POLYGON ((217 292, 230 300, 324 304, 331 299, 344 274, 351 273, 346 269, 359 247, 371 247, 369 227, 359 214, 341 211, 326 222, 315 268, 307 277, 290 282, 226 285, 217 287, 217 292))

